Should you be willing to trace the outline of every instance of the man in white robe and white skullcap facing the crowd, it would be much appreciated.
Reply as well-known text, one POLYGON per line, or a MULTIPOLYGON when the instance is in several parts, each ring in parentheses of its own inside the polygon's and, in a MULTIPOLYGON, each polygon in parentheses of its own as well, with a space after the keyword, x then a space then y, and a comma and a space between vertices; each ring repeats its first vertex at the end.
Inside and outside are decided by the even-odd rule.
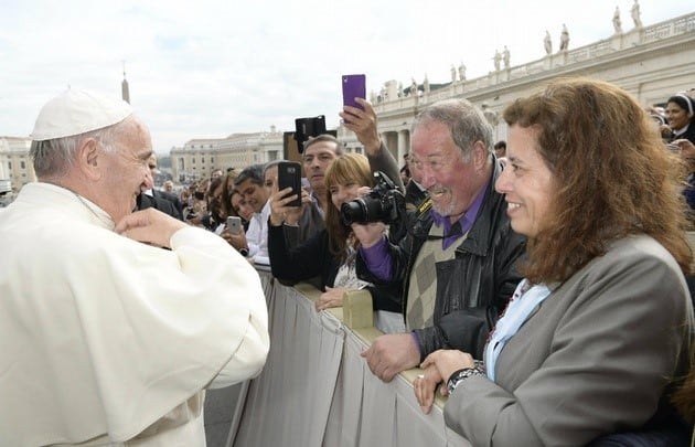
POLYGON ((0 445, 204 446, 204 390, 268 353, 256 270, 154 209, 131 107, 67 91, 39 114, 39 181, 0 211, 0 445))

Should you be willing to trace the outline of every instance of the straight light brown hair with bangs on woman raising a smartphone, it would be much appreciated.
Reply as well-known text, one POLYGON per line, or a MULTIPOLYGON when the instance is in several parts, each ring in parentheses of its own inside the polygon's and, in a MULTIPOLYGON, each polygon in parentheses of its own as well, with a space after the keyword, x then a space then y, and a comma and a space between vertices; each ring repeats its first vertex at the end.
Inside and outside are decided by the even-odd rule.
POLYGON ((374 178, 370 169, 367 158, 361 153, 343 153, 338 157, 325 170, 323 179, 325 195, 328 198, 328 211, 325 213, 325 227, 329 233, 329 248, 331 254, 343 263, 348 256, 348 236, 352 233, 350 226, 345 226, 340 216, 340 210, 333 206, 331 201, 331 188, 336 184, 357 183, 361 187, 374 185, 374 178))

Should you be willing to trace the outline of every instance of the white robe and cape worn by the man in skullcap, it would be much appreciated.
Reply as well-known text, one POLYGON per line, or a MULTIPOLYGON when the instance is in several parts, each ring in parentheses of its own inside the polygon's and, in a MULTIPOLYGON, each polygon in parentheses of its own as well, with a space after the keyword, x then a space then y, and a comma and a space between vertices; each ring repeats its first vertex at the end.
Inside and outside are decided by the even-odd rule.
POLYGON ((3 446, 111 445, 146 428, 133 445, 204 446, 201 390, 263 368, 265 297, 234 248, 195 227, 171 251, 113 227, 47 183, 0 214, 3 446))

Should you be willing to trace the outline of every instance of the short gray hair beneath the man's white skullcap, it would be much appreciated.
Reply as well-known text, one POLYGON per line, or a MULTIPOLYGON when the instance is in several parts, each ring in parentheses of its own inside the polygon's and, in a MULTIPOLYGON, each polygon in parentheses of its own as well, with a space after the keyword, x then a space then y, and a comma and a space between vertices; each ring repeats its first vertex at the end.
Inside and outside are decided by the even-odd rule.
POLYGON ((61 178, 67 174, 75 163, 77 148, 87 138, 97 140, 106 152, 115 151, 116 142, 122 137, 127 124, 135 120, 137 118, 130 115, 122 121, 101 129, 52 140, 32 141, 29 156, 33 159, 36 177, 61 178))

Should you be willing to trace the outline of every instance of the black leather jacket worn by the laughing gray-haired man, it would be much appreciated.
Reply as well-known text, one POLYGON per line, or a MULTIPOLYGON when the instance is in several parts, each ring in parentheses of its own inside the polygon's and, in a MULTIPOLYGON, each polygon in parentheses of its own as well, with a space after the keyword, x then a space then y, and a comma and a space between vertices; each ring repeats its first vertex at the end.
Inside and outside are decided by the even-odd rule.
MULTIPOLYGON (((494 190, 502 168, 494 160, 493 178, 468 237, 456 248, 456 258, 437 264, 437 299, 434 327, 416 329, 421 359, 438 349, 459 349, 482 359, 490 330, 522 279, 515 268, 524 254, 525 237, 512 231, 504 196, 494 190)), ((372 275, 357 257, 357 276, 400 297, 405 315, 410 269, 432 225, 431 213, 423 213, 400 244, 388 244, 394 278, 372 275)))

